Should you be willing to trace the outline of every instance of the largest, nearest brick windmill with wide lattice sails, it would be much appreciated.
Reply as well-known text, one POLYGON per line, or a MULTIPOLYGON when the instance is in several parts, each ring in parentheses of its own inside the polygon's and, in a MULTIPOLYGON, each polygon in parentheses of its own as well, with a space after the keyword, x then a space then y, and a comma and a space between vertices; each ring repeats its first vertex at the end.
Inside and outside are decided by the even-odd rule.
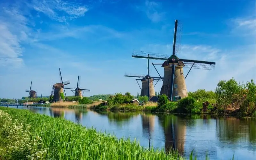
MULTIPOLYGON (((179 23, 179 28, 180 27, 179 23)), ((147 52, 146 55, 145 52, 135 50, 133 50, 132 53, 133 58, 165 60, 164 63, 161 63, 162 67, 164 67, 164 80, 160 95, 165 94, 170 100, 174 101, 188 96, 185 78, 188 76, 188 73, 192 68, 214 70, 215 67, 215 62, 179 59, 176 56, 179 52, 178 49, 176 49, 177 28, 178 20, 175 20, 172 55, 169 58, 166 55, 160 55, 157 53, 147 52), (190 68, 185 78, 183 74, 183 67, 190 68)))

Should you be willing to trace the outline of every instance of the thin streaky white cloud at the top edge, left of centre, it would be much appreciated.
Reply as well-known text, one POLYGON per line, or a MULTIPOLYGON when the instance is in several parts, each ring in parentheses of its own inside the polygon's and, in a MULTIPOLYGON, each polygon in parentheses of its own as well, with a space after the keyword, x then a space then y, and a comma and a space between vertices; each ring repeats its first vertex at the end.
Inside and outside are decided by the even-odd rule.
POLYGON ((53 20, 59 22, 66 22, 67 20, 76 19, 84 16, 88 8, 83 5, 79 5, 72 2, 65 2, 62 0, 44 0, 37 1, 33 0, 32 4, 29 5, 34 10, 42 12, 53 20))

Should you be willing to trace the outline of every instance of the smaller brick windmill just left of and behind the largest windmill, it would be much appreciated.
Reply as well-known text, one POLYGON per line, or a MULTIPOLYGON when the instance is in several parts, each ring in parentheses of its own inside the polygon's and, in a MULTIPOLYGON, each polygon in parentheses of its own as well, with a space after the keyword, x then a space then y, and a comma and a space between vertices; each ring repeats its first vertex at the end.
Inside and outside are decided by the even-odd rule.
MULTIPOLYGON (((149 55, 148 55, 149 57, 149 55)), ((148 74, 146 76, 136 76, 136 75, 124 75, 125 77, 137 77, 137 78, 142 78, 142 79, 136 79, 139 87, 140 87, 140 84, 138 82, 138 80, 141 80, 142 82, 142 85, 140 87, 140 96, 148 96, 148 101, 152 98, 152 97, 155 97, 156 96, 156 93, 155 93, 155 89, 153 86, 153 81, 154 79, 162 79, 162 77, 151 77, 149 76, 149 59, 148 59, 148 74)), ((158 82, 157 81, 157 82, 158 82)), ((155 84, 156 85, 156 84, 155 84)))

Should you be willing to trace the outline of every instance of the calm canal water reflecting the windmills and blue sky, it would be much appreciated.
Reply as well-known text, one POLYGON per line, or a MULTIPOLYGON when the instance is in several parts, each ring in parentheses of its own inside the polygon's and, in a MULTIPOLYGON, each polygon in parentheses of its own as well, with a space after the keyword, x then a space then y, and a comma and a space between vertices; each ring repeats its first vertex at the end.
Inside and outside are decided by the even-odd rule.
MULTIPOLYGON (((13 107, 16 108, 16 107, 13 107)), ((213 159, 254 160, 256 150, 255 119, 200 115, 149 114, 143 112, 96 112, 67 108, 22 107, 32 112, 62 117, 114 133, 118 138, 139 140, 144 147, 178 149, 188 157, 194 149, 197 159, 206 152, 213 159)))

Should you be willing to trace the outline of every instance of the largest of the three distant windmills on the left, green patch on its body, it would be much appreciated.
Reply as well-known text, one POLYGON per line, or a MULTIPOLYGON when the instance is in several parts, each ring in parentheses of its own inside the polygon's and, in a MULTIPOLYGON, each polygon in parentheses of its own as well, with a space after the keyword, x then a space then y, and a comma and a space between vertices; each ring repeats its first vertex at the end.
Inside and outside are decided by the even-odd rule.
POLYGON ((61 83, 56 83, 52 86, 52 92, 51 92, 51 95, 50 95, 49 102, 65 101, 64 93, 65 93, 65 96, 66 96, 66 100, 68 100, 65 89, 64 89, 64 85, 70 84, 69 80, 63 82, 61 72, 60 72, 60 68, 59 68, 59 74, 60 74, 61 83), (63 91, 64 91, 64 93, 63 93, 63 91))

